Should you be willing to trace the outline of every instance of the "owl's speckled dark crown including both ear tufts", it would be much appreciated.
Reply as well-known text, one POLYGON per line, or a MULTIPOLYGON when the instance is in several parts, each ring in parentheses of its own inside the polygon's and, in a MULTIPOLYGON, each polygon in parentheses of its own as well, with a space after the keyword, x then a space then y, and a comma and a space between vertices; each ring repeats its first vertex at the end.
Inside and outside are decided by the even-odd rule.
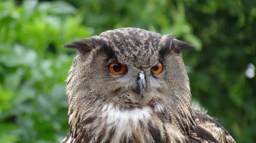
POLYGON ((163 36, 131 27, 106 31, 99 36, 75 41, 65 45, 65 47, 90 50, 95 48, 97 44, 111 50, 119 62, 137 68, 153 66, 161 54, 167 50, 180 52, 181 49, 194 48, 183 41, 174 39, 174 35, 163 36))

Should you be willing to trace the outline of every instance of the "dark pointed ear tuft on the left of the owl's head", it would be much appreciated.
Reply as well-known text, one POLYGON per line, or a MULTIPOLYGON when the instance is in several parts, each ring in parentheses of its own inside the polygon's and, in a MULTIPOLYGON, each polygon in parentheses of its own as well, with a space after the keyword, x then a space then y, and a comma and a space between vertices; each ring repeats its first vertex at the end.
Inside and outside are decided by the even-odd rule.
POLYGON ((74 41, 70 44, 63 45, 63 47, 66 48, 76 48, 78 51, 91 51, 95 48, 95 44, 93 42, 94 40, 92 38, 88 39, 81 39, 74 41))

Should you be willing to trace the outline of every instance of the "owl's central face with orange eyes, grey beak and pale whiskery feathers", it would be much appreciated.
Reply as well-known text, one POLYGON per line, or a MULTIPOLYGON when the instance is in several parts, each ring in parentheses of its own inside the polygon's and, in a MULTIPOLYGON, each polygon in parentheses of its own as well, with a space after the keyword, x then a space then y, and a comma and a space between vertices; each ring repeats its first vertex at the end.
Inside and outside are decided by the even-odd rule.
POLYGON ((109 85, 114 101, 142 106, 151 103, 154 97, 160 97, 162 89, 161 75, 163 73, 163 60, 159 59, 153 66, 137 68, 133 65, 122 64, 117 58, 109 58, 108 65, 109 85), (132 103, 132 104, 131 104, 132 103))

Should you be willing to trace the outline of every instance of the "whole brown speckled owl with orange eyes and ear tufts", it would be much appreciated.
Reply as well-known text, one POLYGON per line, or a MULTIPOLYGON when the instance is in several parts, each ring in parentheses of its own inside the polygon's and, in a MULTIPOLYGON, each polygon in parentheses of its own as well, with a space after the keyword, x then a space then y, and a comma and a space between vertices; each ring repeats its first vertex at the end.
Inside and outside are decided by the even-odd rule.
POLYGON ((174 35, 119 28, 65 47, 76 48, 67 79, 69 133, 62 142, 235 142, 191 105, 174 35))

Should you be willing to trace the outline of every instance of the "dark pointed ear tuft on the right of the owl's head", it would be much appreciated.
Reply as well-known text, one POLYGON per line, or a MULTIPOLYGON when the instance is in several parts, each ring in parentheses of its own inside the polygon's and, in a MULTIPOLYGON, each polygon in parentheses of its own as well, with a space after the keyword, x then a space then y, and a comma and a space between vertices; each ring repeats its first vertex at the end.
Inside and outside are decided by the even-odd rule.
POLYGON ((181 50, 184 49, 195 49, 193 45, 177 39, 172 39, 170 44, 170 49, 174 50, 177 53, 180 53, 181 50))

